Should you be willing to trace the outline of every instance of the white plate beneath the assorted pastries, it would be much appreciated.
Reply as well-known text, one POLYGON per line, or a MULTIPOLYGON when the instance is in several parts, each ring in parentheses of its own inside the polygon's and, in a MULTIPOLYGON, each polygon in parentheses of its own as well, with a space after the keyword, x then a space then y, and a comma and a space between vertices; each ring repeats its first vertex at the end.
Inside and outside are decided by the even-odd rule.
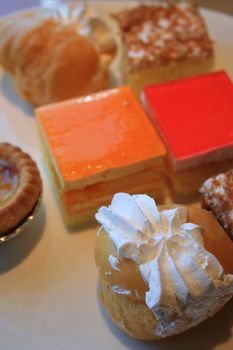
MULTIPOLYGON (((95 7, 106 14, 125 5, 100 2, 95 7)), ((207 10, 203 14, 216 42, 216 69, 226 69, 233 77, 233 18, 207 10)), ((65 228, 40 152, 33 110, 16 96, 2 72, 0 141, 28 151, 44 182, 42 209, 33 225, 0 246, 2 350, 233 349, 233 302, 202 325, 159 342, 131 339, 112 325, 98 300, 96 228, 65 228)))

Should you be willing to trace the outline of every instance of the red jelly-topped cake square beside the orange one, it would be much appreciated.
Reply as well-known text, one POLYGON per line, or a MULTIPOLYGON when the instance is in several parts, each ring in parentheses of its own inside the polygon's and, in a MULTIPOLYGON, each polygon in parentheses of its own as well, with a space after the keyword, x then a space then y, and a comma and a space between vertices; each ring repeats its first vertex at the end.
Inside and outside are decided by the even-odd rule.
POLYGON ((233 166, 233 84, 225 72, 145 87, 143 101, 166 145, 173 191, 197 193, 233 166))

